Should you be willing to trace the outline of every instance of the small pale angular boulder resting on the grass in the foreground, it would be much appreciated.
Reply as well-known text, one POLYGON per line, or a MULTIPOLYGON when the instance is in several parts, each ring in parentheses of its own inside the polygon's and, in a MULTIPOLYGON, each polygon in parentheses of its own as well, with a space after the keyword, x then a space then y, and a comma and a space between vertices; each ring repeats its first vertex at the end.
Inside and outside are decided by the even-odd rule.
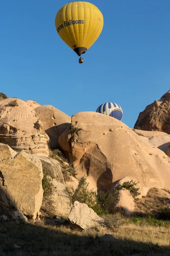
POLYGON ((100 218, 93 209, 89 208, 87 204, 74 202, 73 207, 68 215, 68 221, 73 228, 85 230, 91 227, 102 227, 104 220, 100 218))

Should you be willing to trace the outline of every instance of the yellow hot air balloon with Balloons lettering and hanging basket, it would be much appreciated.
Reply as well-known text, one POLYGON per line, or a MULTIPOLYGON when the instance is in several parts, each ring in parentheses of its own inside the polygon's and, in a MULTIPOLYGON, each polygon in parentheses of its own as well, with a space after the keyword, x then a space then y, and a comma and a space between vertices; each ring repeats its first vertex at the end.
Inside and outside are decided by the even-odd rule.
MULTIPOLYGON (((103 15, 92 3, 75 1, 62 6, 57 12, 55 26, 62 40, 81 56, 99 37, 103 15)), ((79 63, 82 63, 82 57, 79 63)))

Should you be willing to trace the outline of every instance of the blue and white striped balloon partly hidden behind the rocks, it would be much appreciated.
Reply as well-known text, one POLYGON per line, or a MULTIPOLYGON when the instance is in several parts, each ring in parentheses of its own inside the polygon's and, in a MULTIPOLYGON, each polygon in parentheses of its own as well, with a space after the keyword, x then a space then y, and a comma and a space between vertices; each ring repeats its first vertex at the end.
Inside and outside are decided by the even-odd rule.
POLYGON ((99 108, 97 108, 96 112, 105 114, 107 116, 113 116, 120 121, 122 120, 123 116, 122 108, 118 104, 113 102, 107 102, 100 105, 99 108))

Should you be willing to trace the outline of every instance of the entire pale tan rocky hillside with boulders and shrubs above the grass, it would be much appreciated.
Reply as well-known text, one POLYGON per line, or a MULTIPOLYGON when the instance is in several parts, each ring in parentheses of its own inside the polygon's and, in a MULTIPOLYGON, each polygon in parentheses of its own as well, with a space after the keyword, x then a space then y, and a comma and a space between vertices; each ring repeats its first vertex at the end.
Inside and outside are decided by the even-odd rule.
POLYGON ((0 214, 66 218, 80 229, 102 228, 103 212, 140 214, 150 189, 168 198, 169 143, 166 133, 100 113, 69 117, 51 105, 1 98, 0 214))

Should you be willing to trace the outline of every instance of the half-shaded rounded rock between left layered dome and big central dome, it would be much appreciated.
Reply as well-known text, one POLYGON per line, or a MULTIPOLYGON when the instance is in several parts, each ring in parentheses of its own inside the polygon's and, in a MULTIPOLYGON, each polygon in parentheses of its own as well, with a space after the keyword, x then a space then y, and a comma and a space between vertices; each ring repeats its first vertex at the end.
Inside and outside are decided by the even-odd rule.
POLYGON ((71 117, 52 105, 35 108, 35 112, 43 124, 45 133, 50 138, 49 145, 58 147, 58 138, 66 128, 70 127, 71 117))

